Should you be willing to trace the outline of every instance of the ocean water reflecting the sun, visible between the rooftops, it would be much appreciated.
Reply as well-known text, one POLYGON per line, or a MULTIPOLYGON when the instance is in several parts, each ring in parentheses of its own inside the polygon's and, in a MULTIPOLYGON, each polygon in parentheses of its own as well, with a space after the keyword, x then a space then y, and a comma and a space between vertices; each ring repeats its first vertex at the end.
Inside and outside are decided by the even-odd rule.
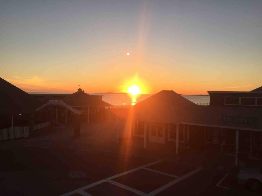
MULTIPOLYGON (((102 95, 102 100, 108 102, 114 106, 123 105, 135 105, 140 101, 152 96, 152 94, 141 94, 136 97, 132 97, 129 94, 94 94, 88 93, 90 95, 102 95)), ((200 95, 182 95, 184 98, 192 101, 193 103, 209 103, 209 96, 200 95)))

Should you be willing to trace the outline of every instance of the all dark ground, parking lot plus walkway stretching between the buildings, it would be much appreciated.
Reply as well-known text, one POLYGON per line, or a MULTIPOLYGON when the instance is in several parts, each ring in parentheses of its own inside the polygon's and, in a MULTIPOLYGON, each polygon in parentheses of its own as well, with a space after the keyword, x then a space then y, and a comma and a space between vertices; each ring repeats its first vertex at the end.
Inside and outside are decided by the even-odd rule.
POLYGON ((198 155, 157 155, 117 144, 113 123, 85 126, 79 139, 61 127, 0 142, 0 195, 262 195, 198 155))

